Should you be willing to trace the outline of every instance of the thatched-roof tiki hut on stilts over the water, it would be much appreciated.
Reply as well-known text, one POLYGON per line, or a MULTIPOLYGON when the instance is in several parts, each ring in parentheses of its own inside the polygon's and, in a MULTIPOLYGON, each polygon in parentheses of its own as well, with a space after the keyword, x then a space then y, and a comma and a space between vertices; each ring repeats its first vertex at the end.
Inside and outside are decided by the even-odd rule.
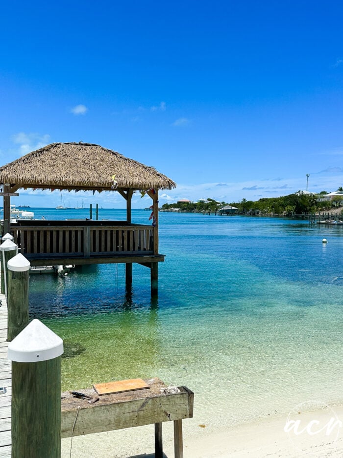
MULTIPOLYGON (((175 183, 155 168, 89 143, 52 143, 0 167, 3 231, 11 232, 32 265, 125 263, 126 284, 132 263, 151 269, 157 291, 158 190, 175 183), (126 221, 17 221, 10 223, 10 196, 20 188, 117 191, 126 200, 126 221), (152 225, 131 223, 135 191, 152 199, 152 225)), ((131 272, 131 273, 130 273, 131 272)))

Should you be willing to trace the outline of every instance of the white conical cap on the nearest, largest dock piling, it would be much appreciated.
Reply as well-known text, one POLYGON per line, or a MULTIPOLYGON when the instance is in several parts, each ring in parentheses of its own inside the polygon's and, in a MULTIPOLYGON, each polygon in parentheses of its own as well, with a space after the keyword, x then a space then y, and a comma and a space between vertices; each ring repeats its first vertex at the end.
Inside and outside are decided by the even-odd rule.
POLYGON ((39 320, 32 320, 8 344, 7 357, 20 363, 36 363, 63 353, 63 340, 39 320))

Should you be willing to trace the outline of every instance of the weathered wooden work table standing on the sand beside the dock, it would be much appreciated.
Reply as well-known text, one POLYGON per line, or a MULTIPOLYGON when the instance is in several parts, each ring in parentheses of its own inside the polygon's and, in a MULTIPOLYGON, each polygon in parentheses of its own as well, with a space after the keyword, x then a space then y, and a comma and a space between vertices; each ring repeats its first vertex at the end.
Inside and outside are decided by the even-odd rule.
MULTIPOLYGON (((178 387, 179 393, 165 394, 163 390, 166 385, 159 378, 145 381, 148 389, 103 395, 95 404, 88 404, 87 399, 82 400, 63 392, 61 437, 154 423, 155 456, 162 458, 162 422, 173 421, 175 458, 183 458, 182 420, 193 417, 194 393, 181 386, 178 387)), ((91 397, 97 396, 94 388, 77 391, 91 397)))

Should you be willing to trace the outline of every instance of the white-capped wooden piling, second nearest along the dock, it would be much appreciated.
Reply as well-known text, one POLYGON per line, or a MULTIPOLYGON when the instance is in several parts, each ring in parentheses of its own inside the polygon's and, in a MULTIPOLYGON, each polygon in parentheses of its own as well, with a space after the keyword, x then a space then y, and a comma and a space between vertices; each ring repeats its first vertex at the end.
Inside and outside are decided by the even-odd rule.
POLYGON ((11 342, 28 324, 28 276, 30 263, 21 253, 7 262, 7 340, 11 342))

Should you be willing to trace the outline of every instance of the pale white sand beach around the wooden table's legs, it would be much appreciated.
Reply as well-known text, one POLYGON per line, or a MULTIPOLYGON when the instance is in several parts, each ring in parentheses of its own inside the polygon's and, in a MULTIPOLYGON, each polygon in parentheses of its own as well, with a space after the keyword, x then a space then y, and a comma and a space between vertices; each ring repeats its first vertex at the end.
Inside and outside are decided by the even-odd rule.
MULTIPOLYGON (((343 425, 343 406, 333 407, 343 425)), ((299 430, 309 422, 317 420, 310 431, 318 431, 332 417, 331 411, 301 413, 291 419, 300 420, 299 430), (318 425, 318 426, 317 426, 318 425)), ((329 434, 325 431, 310 435, 307 431, 290 435, 284 431, 287 416, 262 420, 252 424, 215 432, 201 428, 195 419, 184 420, 184 457, 250 457, 250 458, 300 458, 300 457, 343 457, 343 426, 329 434), (338 436, 338 437, 337 437, 338 436)), ((163 423, 163 444, 165 456, 172 458, 172 422, 163 423)), ((62 457, 70 456, 70 439, 62 440, 62 457)), ((152 458, 154 457, 154 427, 149 425, 121 431, 102 432, 73 438, 73 458, 152 458)))

